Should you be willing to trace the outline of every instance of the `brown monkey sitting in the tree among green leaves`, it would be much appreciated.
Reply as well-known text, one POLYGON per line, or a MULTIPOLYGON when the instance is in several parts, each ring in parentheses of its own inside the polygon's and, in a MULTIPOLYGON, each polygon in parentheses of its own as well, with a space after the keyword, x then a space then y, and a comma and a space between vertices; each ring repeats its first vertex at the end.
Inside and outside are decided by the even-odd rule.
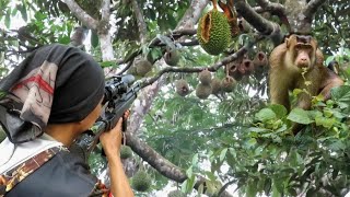
POLYGON ((269 95, 272 104, 291 111, 289 91, 305 90, 298 95, 296 106, 310 109, 312 96, 330 99, 330 89, 343 84, 342 79, 323 66, 324 56, 315 38, 292 34, 270 54, 269 95))

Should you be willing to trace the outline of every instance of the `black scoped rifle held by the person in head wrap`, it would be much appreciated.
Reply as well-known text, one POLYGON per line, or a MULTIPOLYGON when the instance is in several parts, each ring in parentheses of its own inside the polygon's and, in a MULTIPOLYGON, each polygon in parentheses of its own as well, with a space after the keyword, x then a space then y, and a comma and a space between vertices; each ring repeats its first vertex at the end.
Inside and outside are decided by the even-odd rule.
MULTIPOLYGON (((105 93, 102 104, 105 109, 93 127, 83 132, 75 140, 75 144, 82 149, 86 159, 91 151, 98 143, 98 138, 104 131, 114 128, 124 113, 130 108, 141 90, 140 83, 132 84, 135 77, 131 74, 115 76, 106 81, 105 93), (132 85, 131 85, 132 84, 132 85)), ((122 121, 122 131, 126 130, 126 120, 122 121)))

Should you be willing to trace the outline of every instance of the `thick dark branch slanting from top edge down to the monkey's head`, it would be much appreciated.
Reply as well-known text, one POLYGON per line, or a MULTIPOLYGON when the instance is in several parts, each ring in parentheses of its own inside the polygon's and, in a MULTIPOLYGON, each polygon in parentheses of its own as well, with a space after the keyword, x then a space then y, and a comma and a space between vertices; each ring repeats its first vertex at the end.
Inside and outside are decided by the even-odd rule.
POLYGON ((235 1, 236 11, 260 34, 269 36, 273 44, 280 44, 283 35, 281 35, 280 26, 264 19, 258 14, 245 0, 235 1))

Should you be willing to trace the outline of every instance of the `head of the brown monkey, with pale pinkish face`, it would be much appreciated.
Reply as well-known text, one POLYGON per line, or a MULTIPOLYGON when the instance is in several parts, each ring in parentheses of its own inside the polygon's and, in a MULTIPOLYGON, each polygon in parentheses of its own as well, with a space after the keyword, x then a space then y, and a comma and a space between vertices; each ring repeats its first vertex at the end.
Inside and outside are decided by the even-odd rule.
POLYGON ((289 65, 299 70, 314 67, 316 61, 317 42, 312 36, 291 35, 285 38, 287 53, 289 54, 289 65))

